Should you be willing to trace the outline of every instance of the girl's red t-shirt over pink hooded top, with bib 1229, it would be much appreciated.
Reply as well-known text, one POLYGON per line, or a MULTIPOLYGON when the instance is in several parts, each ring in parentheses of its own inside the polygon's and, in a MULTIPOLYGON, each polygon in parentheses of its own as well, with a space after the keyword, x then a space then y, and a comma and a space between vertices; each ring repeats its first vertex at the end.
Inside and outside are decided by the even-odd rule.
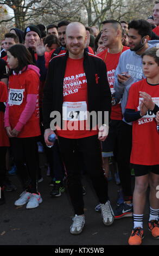
POLYGON ((9 77, 9 94, 4 115, 4 126, 11 126, 26 138, 40 135, 39 126, 39 68, 28 65, 9 77))

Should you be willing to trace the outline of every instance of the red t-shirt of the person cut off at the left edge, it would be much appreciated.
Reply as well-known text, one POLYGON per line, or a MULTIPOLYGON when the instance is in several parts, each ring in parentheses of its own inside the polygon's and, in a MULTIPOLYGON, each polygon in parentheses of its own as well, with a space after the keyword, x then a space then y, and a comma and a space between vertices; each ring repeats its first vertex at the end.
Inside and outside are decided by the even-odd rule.
MULTIPOLYGON (((7 85, 0 82, 0 102, 7 102, 8 90, 7 85)), ((0 111, 0 147, 9 147, 9 138, 4 129, 4 112, 0 111)))

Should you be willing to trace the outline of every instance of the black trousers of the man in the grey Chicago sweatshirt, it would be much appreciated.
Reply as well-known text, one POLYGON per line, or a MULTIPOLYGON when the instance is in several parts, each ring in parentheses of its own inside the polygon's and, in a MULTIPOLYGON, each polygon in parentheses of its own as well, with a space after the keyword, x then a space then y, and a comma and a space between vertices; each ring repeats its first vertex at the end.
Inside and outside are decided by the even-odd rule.
POLYGON ((118 166, 124 200, 132 200, 130 155, 132 148, 132 125, 122 121, 119 131, 118 166))

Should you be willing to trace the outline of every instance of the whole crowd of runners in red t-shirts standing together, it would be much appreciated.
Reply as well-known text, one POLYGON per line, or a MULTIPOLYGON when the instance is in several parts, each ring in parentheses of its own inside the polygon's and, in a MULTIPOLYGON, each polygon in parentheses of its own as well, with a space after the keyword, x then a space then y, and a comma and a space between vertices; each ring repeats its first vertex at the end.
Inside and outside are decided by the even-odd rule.
POLYGON ((22 188, 14 204, 42 203, 43 153, 50 196, 68 190, 71 234, 85 226, 87 173, 105 225, 133 216, 129 245, 142 243, 149 187, 148 229, 159 239, 159 1, 145 20, 105 19, 100 29, 69 21, 11 28, 0 65, 0 205, 7 204, 5 191, 16 190, 14 174, 22 188), (120 185, 116 209, 110 162, 120 185))

